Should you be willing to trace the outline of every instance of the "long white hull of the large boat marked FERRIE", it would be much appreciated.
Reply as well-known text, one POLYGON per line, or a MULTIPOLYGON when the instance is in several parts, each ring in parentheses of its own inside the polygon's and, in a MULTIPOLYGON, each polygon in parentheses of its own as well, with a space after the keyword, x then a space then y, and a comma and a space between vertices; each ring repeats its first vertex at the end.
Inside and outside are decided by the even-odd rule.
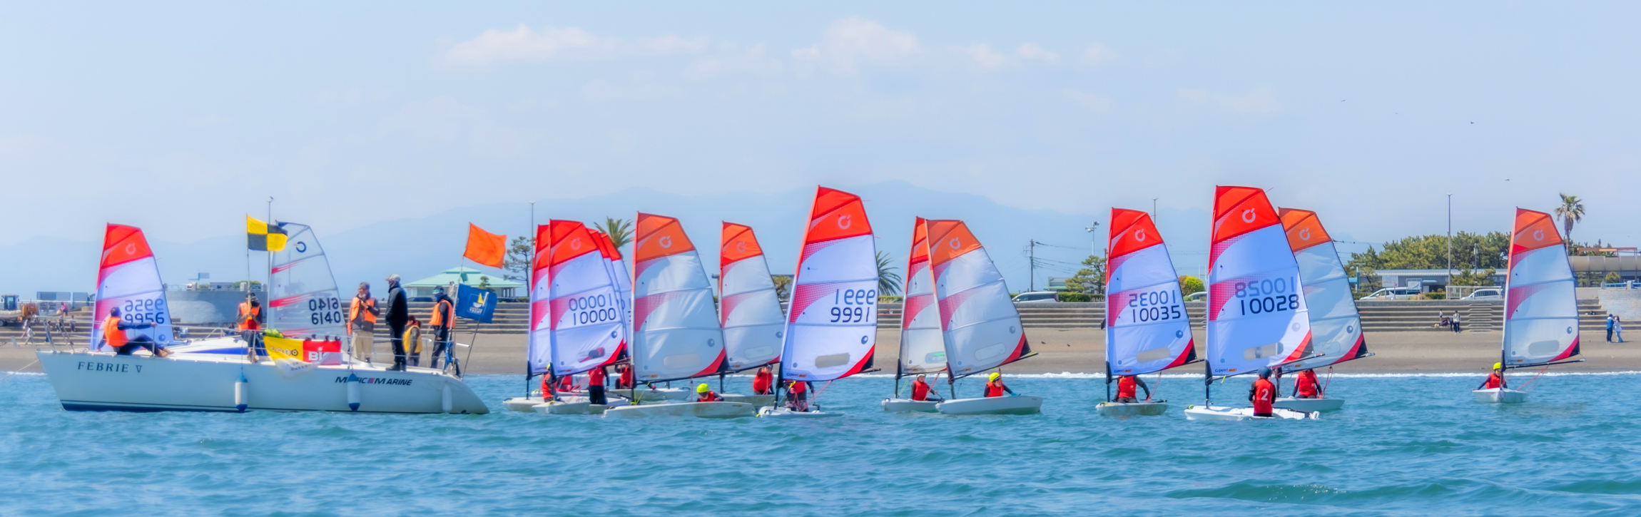
POLYGON ((66 410, 238 412, 243 404, 245 410, 489 412, 466 382, 430 368, 310 366, 290 373, 274 361, 249 363, 243 355, 39 351, 38 356, 66 410), (246 382, 236 396, 241 374, 246 382))

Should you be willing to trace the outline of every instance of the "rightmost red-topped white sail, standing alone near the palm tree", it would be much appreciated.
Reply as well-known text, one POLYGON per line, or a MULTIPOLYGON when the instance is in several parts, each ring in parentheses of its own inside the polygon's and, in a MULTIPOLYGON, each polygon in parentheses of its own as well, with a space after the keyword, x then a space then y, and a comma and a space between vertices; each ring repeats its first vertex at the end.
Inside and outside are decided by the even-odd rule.
POLYGON ((1579 355, 1579 300, 1567 245, 1549 213, 1516 208, 1505 284, 1506 366, 1579 355))

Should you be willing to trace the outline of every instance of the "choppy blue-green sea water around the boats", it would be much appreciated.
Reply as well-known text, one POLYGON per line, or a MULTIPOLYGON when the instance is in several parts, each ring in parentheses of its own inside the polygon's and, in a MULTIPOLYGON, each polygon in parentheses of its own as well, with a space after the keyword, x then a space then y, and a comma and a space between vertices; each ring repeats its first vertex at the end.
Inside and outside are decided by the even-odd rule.
POLYGON ((491 415, 85 414, 20 374, 0 514, 1641 515, 1641 374, 1546 376, 1521 405, 1470 402, 1480 379, 1341 376, 1318 422, 1190 422, 1186 377, 1129 420, 1093 414, 1090 377, 1009 376, 1049 399, 1014 417, 884 414, 893 381, 857 377, 820 397, 847 417, 766 422, 501 410, 520 376, 469 377, 491 415))

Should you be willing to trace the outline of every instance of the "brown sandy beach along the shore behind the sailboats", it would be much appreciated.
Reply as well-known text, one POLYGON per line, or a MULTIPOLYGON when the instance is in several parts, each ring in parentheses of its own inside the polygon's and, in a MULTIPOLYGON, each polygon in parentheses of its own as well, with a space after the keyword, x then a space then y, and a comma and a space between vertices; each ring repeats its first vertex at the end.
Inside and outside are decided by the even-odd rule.
MULTIPOLYGON (((1099 373, 1104 371, 1104 333, 1098 328, 1027 328, 1039 356, 1004 366, 1008 373, 1099 373)), ((471 335, 469 335, 471 336, 471 335)), ((468 336, 461 336, 466 341, 468 336)), ((893 371, 899 330, 878 332, 876 366, 893 371)), ((1206 336, 1196 332, 1198 355, 1206 336)), ((1378 332, 1367 335, 1375 356, 1337 366, 1336 373, 1482 373, 1498 359, 1500 332, 1378 332)), ((474 374, 515 374, 523 371, 525 335, 479 335, 468 359, 474 374)), ((1554 366, 1556 371, 1641 371, 1641 341, 1607 343, 1600 332, 1580 338, 1585 363, 1554 366)), ((391 361, 386 355, 384 359, 391 361)), ((0 371, 39 371, 34 348, 0 346, 0 371)), ((1188 368, 1190 371, 1200 371, 1188 368)), ((1180 373, 1186 373, 1182 369, 1180 373)))

